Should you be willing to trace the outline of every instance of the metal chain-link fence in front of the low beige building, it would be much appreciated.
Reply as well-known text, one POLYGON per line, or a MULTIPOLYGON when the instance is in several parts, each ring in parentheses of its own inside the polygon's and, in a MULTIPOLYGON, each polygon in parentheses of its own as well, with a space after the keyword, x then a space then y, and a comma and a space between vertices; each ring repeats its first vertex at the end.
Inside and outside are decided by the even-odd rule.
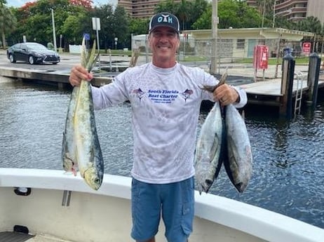
MULTIPOLYGON (((281 76, 281 59, 286 53, 291 53, 295 58, 304 55, 302 42, 287 42, 278 39, 217 39, 217 56, 212 56, 212 40, 195 40, 180 36, 180 48, 178 49, 178 61, 186 65, 201 67, 206 72, 210 70, 210 60, 217 62, 217 73, 231 66, 229 72, 239 76, 254 76, 255 69, 252 67, 253 52, 256 45, 269 47, 269 58, 276 61, 276 65, 269 67, 262 73, 262 77, 279 78, 281 76), (242 71, 243 69, 243 71, 242 71)), ((147 44, 147 35, 132 38, 132 49, 140 49, 141 55, 145 56, 145 62, 151 60, 151 51, 147 44)), ((319 53, 321 55, 321 53, 319 53)), ((143 60, 143 58, 142 58, 143 60)), ((231 73, 229 73, 231 74, 231 73)), ((257 76, 258 77, 258 74, 257 76)))

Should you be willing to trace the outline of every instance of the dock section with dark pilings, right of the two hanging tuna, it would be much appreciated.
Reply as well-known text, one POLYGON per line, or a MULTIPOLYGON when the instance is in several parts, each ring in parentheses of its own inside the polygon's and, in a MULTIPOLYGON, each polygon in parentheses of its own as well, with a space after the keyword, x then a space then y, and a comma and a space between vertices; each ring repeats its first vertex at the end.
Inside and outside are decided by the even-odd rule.
POLYGON ((307 72, 301 72, 295 69, 292 55, 285 55, 281 79, 259 81, 242 86, 248 95, 248 105, 278 107, 279 116, 285 116, 287 119, 299 114, 304 102, 314 109, 318 90, 324 86, 320 62, 319 56, 313 53, 309 56, 307 72))

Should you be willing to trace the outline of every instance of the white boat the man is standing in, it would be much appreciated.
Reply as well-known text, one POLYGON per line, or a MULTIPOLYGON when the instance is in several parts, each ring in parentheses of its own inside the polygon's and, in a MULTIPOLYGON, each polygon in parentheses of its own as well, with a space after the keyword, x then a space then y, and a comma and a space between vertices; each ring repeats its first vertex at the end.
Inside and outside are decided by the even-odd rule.
MULTIPOLYGON (((0 168, 0 241, 119 242, 130 238, 130 177, 95 191, 62 170, 0 168)), ((195 194, 190 242, 323 242, 324 229, 264 208, 195 194)), ((156 241, 166 241, 161 222, 156 241)))

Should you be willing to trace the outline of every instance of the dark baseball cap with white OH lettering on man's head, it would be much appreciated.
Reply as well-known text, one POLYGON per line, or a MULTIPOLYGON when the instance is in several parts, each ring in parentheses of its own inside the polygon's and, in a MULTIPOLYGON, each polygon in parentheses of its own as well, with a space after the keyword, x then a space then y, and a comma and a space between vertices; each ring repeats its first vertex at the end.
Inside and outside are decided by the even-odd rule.
POLYGON ((153 15, 153 17, 149 21, 149 32, 160 26, 170 27, 171 29, 174 29, 178 34, 180 32, 179 20, 172 13, 163 12, 153 15))

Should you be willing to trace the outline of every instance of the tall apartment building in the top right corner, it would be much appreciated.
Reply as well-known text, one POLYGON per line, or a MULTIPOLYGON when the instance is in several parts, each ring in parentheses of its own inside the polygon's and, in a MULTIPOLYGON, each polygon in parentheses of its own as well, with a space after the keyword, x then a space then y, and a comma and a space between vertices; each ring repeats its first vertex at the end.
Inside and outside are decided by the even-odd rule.
MULTIPOLYGON (((249 6, 257 6, 257 0, 247 0, 246 3, 249 6)), ((294 22, 313 16, 324 23, 323 0, 276 0, 274 8, 276 15, 294 22)))

